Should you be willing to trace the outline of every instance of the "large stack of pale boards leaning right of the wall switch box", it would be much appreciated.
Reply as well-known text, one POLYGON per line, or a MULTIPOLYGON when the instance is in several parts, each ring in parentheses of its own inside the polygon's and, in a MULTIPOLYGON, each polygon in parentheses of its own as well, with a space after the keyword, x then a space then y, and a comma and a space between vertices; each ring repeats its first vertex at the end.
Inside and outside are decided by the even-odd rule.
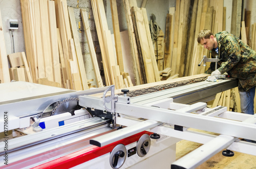
MULTIPOLYGON (((73 8, 67 6, 66 0, 25 0, 20 4, 33 82, 89 89, 73 8)), ((97 87, 102 87, 95 58, 93 55, 95 81, 97 87)))

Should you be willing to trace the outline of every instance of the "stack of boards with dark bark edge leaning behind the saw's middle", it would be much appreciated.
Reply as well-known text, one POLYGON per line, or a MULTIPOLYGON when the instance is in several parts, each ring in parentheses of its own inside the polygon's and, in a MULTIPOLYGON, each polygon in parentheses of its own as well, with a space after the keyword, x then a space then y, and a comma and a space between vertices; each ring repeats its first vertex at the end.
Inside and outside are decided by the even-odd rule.
POLYGON ((123 4, 136 85, 160 81, 146 9, 138 8, 135 0, 123 0, 123 4))

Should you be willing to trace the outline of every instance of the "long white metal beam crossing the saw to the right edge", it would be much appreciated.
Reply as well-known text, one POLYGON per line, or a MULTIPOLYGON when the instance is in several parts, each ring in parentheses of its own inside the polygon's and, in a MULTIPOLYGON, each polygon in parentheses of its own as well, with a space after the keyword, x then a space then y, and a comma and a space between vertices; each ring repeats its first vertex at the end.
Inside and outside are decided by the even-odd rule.
POLYGON ((127 105, 117 102, 115 106, 116 113, 124 115, 256 140, 256 135, 251 134, 256 131, 254 124, 135 104, 127 105))

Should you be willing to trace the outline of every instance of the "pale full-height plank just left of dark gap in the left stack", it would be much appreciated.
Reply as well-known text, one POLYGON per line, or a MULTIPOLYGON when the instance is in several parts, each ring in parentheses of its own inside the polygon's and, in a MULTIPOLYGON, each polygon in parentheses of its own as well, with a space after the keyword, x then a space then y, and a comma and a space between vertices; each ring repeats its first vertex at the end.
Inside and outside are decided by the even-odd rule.
POLYGON ((50 42, 51 42, 51 56, 52 56, 52 68, 54 82, 59 83, 62 86, 61 73, 60 73, 60 58, 58 51, 58 33, 56 25, 56 12, 55 2, 48 2, 48 16, 49 16, 49 28, 50 28, 50 42))

